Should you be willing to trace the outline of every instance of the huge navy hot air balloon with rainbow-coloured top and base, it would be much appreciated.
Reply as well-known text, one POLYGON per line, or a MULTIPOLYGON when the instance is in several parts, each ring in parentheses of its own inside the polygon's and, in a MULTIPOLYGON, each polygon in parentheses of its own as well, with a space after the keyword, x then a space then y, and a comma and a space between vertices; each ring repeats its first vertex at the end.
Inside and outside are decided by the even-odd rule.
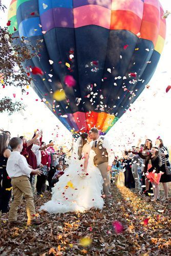
POLYGON ((8 20, 13 44, 41 42, 23 66, 44 72, 32 87, 48 108, 70 131, 106 134, 155 72, 162 16, 158 0, 12 0, 8 20))

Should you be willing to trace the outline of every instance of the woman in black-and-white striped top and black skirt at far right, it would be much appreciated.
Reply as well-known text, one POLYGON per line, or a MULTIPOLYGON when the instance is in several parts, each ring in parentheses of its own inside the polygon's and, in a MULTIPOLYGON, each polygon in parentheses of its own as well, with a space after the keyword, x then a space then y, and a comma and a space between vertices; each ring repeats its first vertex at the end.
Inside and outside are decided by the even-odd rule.
POLYGON ((163 183, 165 198, 168 199, 168 183, 167 182, 171 182, 171 175, 166 174, 165 161, 166 161, 166 165, 169 166, 170 165, 169 153, 168 153, 167 147, 163 145, 162 139, 156 140, 156 146, 158 146, 159 151, 160 151, 161 163, 162 163, 161 171, 164 173, 161 176, 160 182, 163 183))

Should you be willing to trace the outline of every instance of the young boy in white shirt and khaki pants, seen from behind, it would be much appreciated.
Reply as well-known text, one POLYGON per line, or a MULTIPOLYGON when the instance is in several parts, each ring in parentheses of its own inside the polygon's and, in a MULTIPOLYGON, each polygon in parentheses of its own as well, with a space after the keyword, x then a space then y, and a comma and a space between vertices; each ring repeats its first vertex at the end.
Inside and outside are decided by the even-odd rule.
POLYGON ((10 224, 19 225, 22 222, 17 221, 17 209, 22 200, 22 195, 26 199, 26 210, 28 221, 27 224, 39 224, 40 220, 35 218, 35 208, 33 201, 33 193, 31 184, 29 181, 30 174, 41 175, 39 169, 31 169, 24 156, 20 155, 23 149, 23 141, 20 138, 12 138, 9 145, 13 152, 7 161, 7 173, 11 178, 11 184, 13 187, 14 200, 11 203, 9 210, 9 222, 10 224))

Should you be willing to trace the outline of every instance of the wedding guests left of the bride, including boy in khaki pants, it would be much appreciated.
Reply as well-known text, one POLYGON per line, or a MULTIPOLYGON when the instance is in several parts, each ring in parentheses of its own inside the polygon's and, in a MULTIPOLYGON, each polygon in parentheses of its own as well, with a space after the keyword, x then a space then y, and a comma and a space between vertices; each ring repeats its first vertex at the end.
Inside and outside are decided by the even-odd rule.
POLYGON ((24 136, 11 139, 9 131, 0 133, 0 211, 9 212, 9 221, 17 224, 17 208, 22 195, 27 203, 28 223, 37 224, 33 194, 42 196, 45 190, 52 191, 68 167, 63 148, 55 150, 53 141, 46 145, 42 131, 27 140, 24 136), (11 172, 13 170, 13 172, 11 172), (28 179, 28 177, 30 177, 28 179), (13 190, 13 201, 9 207, 13 190))

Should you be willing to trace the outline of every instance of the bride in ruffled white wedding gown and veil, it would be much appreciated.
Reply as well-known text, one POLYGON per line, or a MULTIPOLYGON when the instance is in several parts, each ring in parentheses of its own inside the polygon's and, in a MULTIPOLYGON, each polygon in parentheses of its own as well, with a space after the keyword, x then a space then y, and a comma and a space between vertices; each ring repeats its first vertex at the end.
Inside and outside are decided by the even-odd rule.
POLYGON ((91 150, 90 141, 89 135, 83 133, 74 143, 69 167, 52 189, 51 201, 40 210, 57 214, 103 207, 103 179, 94 165, 95 152, 91 150))

